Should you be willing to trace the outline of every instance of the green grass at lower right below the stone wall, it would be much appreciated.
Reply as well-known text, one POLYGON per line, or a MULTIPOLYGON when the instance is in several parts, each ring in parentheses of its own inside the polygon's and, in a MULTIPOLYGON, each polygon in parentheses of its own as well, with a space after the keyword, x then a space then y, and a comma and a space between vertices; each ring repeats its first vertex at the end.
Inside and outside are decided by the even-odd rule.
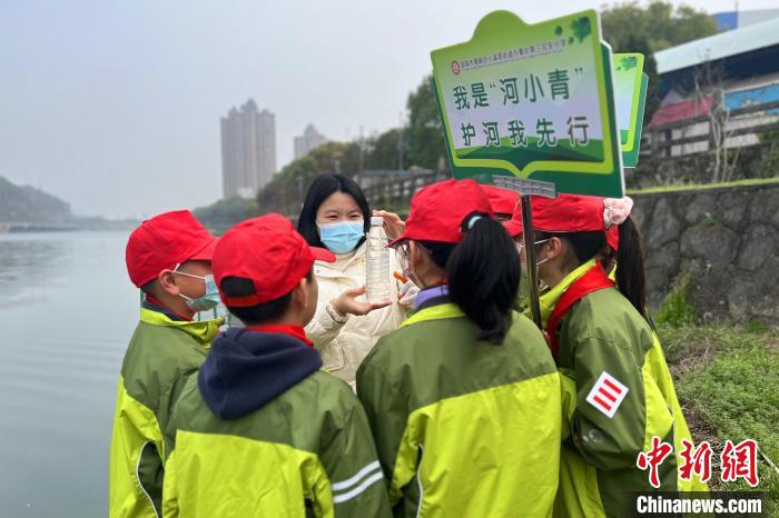
MULTIPOLYGON (((746 327, 659 328, 677 391, 696 444, 714 449, 710 487, 752 490, 745 481, 722 484, 719 454, 726 439, 750 438, 775 465, 779 462, 779 332, 746 327)), ((779 474, 758 456, 759 491, 766 516, 779 512, 779 474)))

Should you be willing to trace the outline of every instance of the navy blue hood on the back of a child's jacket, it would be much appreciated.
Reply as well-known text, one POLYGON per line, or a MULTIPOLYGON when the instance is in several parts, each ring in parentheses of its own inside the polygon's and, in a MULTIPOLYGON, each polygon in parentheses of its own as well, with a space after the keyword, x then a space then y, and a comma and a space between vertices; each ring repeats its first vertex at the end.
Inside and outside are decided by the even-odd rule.
POLYGON ((262 408, 321 367, 319 352, 296 338, 230 328, 214 339, 197 381, 214 415, 236 419, 262 408))

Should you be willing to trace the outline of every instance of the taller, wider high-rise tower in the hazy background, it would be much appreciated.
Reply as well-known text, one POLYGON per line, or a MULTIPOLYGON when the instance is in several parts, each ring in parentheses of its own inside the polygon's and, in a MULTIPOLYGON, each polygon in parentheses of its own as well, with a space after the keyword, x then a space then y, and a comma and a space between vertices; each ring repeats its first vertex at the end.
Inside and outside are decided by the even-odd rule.
POLYGON ((276 172, 276 116, 249 99, 221 118, 221 180, 225 198, 252 198, 276 172))

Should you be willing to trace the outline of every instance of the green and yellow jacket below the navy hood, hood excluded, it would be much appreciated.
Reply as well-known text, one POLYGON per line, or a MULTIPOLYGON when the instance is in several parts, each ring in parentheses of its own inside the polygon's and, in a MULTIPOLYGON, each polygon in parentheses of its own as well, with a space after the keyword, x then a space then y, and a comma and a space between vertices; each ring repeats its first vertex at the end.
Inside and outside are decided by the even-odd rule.
POLYGON ((351 388, 327 372, 236 419, 216 417, 193 377, 172 429, 166 518, 389 516, 365 412, 351 388))

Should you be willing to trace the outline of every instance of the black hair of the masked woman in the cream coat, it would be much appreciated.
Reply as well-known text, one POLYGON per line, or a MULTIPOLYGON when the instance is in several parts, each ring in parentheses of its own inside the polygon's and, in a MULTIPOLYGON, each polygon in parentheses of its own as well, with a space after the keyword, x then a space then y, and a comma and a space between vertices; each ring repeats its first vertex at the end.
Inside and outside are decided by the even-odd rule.
MULTIPOLYGON (((316 227, 316 211, 319 210, 322 202, 334 192, 343 192, 354 198, 363 212, 363 219, 365 220, 363 229, 365 233, 371 230, 371 208, 365 193, 357 182, 343 175, 322 175, 316 177, 310 187, 308 187, 306 200, 303 202, 300 216, 297 218, 297 231, 312 247, 326 248, 319 239, 319 231, 316 227)), ((365 238, 361 239, 357 246, 362 245, 364 240, 365 238)))

